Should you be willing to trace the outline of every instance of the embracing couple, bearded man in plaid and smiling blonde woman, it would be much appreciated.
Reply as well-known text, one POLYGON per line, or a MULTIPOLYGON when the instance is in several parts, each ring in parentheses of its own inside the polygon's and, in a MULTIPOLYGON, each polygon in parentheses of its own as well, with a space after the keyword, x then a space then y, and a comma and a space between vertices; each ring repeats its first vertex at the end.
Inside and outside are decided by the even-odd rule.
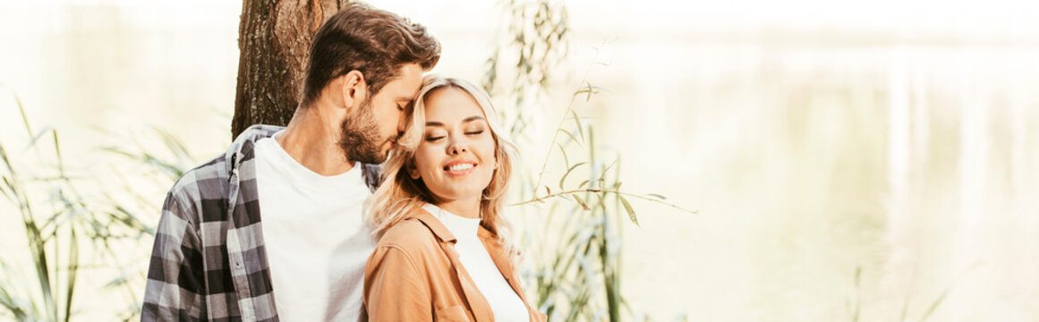
POLYGON ((141 320, 543 320, 503 217, 515 147, 482 89, 423 78, 439 51, 392 12, 332 16, 289 125, 170 189, 141 320))

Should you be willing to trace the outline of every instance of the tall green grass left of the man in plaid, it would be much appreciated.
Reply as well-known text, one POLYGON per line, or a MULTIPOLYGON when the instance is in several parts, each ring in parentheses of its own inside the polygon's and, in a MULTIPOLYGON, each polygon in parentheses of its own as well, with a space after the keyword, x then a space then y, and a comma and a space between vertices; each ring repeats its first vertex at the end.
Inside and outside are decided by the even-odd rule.
MULTIPOLYGON (((127 185, 115 191, 81 193, 80 186, 96 189, 100 182, 119 179, 91 177, 95 169, 68 165, 59 132, 34 130, 21 101, 12 97, 29 139, 15 149, 0 142, 0 194, 9 203, 0 209, 18 215, 0 219, 5 225, 17 220, 24 227, 27 247, 5 249, 0 258, 0 305, 20 321, 70 321, 90 308, 77 305, 78 299, 116 291, 127 303, 111 319, 134 319, 144 272, 135 265, 141 254, 125 250, 151 241, 158 202, 127 185), (80 277, 84 273, 107 281, 100 287, 84 285, 80 277)), ((154 166, 163 168, 158 164, 154 166)))

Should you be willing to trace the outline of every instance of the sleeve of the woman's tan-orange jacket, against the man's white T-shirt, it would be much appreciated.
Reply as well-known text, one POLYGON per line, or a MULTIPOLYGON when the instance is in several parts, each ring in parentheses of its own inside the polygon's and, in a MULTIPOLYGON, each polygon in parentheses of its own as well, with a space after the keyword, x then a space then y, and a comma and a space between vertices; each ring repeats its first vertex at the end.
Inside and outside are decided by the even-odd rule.
POLYGON ((403 249, 375 248, 365 267, 368 321, 432 321, 432 298, 423 276, 403 249))

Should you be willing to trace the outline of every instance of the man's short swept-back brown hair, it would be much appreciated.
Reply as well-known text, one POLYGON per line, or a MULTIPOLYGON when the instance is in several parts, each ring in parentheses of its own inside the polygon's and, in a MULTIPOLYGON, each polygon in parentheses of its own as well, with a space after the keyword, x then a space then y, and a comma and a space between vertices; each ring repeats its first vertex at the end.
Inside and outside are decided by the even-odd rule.
POLYGON ((429 71, 439 59, 441 44, 425 26, 351 1, 314 35, 300 105, 313 103, 328 82, 350 71, 364 75, 374 96, 404 64, 429 71))

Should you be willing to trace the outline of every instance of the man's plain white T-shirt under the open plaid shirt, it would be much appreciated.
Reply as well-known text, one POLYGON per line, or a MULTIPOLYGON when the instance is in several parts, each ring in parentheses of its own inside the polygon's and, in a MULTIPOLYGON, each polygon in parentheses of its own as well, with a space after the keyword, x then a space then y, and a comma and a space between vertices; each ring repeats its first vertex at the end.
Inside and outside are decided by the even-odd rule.
MULTIPOLYGON (((285 131, 274 134, 281 137, 285 131)), ((273 138, 256 143, 261 227, 282 321, 358 321, 375 240, 362 217, 363 168, 321 176, 273 138)))

